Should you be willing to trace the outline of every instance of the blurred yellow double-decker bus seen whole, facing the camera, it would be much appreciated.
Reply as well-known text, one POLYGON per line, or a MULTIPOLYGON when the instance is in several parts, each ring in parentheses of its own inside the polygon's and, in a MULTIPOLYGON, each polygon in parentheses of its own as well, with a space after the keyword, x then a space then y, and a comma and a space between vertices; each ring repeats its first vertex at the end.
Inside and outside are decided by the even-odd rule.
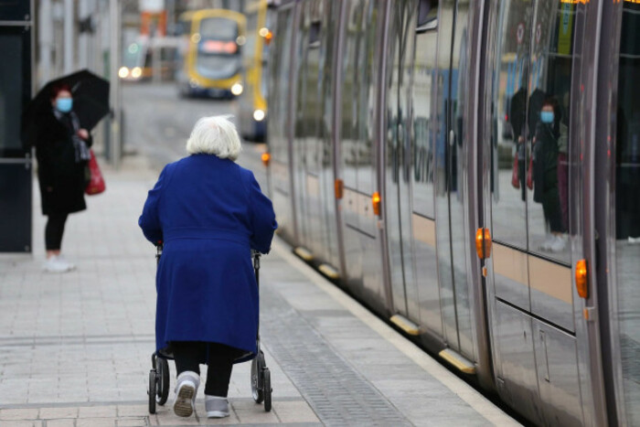
POLYGON ((232 10, 202 9, 180 16, 178 55, 183 65, 176 81, 181 95, 233 98, 242 93, 245 28, 245 17, 232 10))

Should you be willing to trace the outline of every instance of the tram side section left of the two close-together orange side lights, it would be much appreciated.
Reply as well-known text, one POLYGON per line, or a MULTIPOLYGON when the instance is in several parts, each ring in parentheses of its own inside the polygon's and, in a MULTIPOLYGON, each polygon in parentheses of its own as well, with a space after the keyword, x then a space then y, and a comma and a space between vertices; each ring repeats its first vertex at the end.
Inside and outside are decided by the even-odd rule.
POLYGON ((293 138, 298 242, 311 251, 310 255, 337 266, 329 76, 338 7, 336 2, 325 0, 304 2, 301 7, 293 138))

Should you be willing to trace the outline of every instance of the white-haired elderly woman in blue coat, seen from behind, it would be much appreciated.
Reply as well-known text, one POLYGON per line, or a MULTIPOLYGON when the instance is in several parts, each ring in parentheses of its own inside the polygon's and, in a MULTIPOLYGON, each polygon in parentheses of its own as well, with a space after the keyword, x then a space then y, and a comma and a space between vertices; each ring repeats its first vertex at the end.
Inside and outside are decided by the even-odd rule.
POLYGON ((258 289, 251 249, 268 252, 277 228, 272 202, 236 165, 240 138, 227 117, 200 119, 189 156, 165 166, 138 223, 162 241, 156 275, 156 350, 175 358, 176 415, 193 413, 199 364, 208 365, 208 417, 229 416, 234 363, 256 354, 258 289))

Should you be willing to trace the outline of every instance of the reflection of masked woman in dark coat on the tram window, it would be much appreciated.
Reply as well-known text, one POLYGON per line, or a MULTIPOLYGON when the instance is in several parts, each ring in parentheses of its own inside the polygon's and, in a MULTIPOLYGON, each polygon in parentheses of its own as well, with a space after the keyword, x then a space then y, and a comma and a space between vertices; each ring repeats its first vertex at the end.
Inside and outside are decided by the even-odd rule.
POLYGON ((545 100, 533 138, 533 200, 542 204, 548 237, 542 251, 560 252, 566 246, 558 187, 558 155, 560 148, 560 105, 551 97, 545 100))

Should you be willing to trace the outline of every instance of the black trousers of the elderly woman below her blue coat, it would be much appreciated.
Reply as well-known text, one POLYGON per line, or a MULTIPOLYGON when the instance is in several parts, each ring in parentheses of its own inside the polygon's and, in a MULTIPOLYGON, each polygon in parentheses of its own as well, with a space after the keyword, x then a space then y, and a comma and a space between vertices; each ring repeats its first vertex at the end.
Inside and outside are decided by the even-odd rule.
POLYGON ((207 361, 207 384, 205 394, 226 398, 229 393, 229 380, 233 360, 240 355, 240 350, 218 343, 201 341, 173 341, 177 375, 186 370, 200 375, 200 363, 207 361))

